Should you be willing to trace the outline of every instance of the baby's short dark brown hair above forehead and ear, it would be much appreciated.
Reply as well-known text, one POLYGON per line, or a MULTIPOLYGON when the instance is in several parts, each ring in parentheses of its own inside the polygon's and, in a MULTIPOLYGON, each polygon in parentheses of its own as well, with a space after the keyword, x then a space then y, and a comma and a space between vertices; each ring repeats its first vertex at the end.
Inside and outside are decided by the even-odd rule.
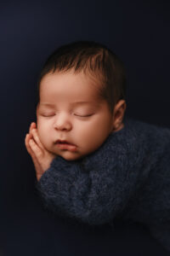
POLYGON ((99 82, 99 96, 108 102, 111 113, 116 103, 126 97, 126 76, 122 61, 104 44, 76 41, 57 48, 42 67, 37 80, 37 103, 42 78, 48 73, 84 72, 99 82))

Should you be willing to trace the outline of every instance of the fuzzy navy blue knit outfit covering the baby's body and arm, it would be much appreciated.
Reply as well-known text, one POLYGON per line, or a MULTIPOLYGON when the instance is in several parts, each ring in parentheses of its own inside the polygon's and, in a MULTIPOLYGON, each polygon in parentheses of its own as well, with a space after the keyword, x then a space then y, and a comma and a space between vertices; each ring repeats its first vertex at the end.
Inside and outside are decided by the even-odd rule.
POLYGON ((48 210, 99 225, 144 224, 170 251, 170 129, 126 117, 93 153, 57 156, 37 182, 48 210))

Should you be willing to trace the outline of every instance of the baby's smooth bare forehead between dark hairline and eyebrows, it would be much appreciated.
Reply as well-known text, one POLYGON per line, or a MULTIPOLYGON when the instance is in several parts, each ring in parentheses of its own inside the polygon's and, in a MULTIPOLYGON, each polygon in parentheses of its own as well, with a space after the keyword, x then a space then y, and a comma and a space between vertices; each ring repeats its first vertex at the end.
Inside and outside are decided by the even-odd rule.
POLYGON ((93 76, 82 73, 48 73, 41 81, 40 95, 69 96, 85 101, 101 102, 101 84, 93 76))

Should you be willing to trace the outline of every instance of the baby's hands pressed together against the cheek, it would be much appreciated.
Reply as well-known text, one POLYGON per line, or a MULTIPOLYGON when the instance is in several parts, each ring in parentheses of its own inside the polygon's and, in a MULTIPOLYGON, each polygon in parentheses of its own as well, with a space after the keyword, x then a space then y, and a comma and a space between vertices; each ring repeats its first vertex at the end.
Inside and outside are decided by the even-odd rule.
POLYGON ((43 172, 47 171, 56 154, 50 153, 42 146, 37 134, 36 123, 31 123, 30 131, 25 138, 26 149, 31 154, 37 175, 37 181, 42 177, 43 172))

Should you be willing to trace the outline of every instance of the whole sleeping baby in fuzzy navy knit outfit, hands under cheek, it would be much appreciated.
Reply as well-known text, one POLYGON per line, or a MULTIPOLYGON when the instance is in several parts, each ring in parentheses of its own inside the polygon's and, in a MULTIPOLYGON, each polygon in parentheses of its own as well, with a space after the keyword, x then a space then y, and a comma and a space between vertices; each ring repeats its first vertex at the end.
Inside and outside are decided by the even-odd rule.
POLYGON ((48 57, 25 140, 37 191, 54 215, 139 222, 170 251, 170 129, 124 116, 125 82, 122 61, 102 44, 75 42, 48 57))

